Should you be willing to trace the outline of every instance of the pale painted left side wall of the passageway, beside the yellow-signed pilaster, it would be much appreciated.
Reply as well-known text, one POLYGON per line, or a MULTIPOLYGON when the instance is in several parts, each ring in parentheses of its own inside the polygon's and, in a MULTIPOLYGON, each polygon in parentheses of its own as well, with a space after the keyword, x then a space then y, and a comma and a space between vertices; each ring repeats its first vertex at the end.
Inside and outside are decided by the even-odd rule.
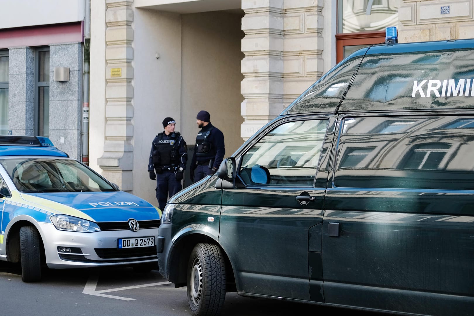
POLYGON ((133 193, 158 205, 156 182, 147 172, 151 144, 163 132, 165 117, 173 117, 176 130, 183 130, 180 15, 135 9, 133 43, 133 193))

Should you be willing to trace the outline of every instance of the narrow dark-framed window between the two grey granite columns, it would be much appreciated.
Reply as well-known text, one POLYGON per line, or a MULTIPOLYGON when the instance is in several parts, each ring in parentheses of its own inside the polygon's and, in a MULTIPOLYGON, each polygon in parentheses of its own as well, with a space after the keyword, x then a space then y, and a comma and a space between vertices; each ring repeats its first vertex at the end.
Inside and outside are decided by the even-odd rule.
POLYGON ((35 52, 35 135, 49 136, 49 47, 35 52))

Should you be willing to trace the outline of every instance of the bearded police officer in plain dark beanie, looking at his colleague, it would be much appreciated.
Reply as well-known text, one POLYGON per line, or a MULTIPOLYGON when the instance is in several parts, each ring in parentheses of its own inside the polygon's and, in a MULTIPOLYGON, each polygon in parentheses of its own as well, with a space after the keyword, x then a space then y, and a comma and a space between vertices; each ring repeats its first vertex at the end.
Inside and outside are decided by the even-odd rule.
POLYGON ((208 111, 200 111, 196 116, 201 131, 196 136, 196 145, 191 160, 191 181, 199 181, 214 174, 224 159, 224 134, 210 123, 208 111))

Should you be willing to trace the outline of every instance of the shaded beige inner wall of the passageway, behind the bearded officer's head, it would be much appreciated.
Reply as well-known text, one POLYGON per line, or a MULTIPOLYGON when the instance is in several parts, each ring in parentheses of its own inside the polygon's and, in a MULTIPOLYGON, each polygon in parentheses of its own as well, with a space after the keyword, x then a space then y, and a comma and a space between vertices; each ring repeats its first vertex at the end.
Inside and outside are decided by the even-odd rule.
POLYGON ((182 15, 182 133, 194 145, 196 115, 208 111, 211 123, 224 133, 226 157, 243 144, 241 18, 225 11, 182 15))

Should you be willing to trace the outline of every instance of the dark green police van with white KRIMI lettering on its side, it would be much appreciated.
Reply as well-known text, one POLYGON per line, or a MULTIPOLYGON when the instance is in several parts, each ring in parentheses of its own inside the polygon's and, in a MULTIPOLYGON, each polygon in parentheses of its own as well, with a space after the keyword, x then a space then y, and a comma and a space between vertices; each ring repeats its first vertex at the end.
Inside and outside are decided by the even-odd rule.
POLYGON ((350 55, 168 202, 160 272, 193 315, 229 291, 474 315, 473 87, 474 39, 350 55))

